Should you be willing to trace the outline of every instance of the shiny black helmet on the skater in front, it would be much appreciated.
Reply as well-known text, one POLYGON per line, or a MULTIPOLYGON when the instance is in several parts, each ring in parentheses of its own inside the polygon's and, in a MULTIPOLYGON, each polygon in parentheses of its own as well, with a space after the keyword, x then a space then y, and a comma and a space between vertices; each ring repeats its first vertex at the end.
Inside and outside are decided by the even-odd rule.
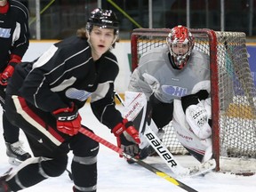
POLYGON ((91 32, 93 25, 100 28, 114 28, 115 35, 119 33, 119 22, 112 10, 102 10, 100 8, 93 10, 87 20, 86 29, 91 32))

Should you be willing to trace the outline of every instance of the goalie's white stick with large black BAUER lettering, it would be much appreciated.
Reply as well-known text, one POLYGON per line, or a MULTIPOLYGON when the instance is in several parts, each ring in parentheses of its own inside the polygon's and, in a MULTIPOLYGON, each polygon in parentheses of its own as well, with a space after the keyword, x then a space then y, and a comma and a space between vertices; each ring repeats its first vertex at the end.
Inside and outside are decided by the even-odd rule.
MULTIPOLYGON (((124 100, 120 97, 120 95, 117 92, 115 92, 115 95, 117 100, 119 100, 121 104, 124 106, 124 100)), ((138 96, 136 98, 138 97, 140 97, 140 93, 138 93, 138 96)), ((134 104, 132 105, 132 111, 129 111, 128 114, 131 115, 132 113, 140 111, 139 107, 141 107, 141 105, 137 102, 134 102, 134 104)), ((146 111, 147 111, 146 113, 148 113, 148 105, 147 105, 146 111)), ((134 117, 137 115, 138 114, 131 115, 131 116, 134 117)), ((125 117, 127 117, 128 120, 133 120, 131 119, 132 118, 131 116, 125 116, 125 117)), ((142 135, 146 137, 150 146, 155 149, 156 153, 164 160, 164 163, 169 166, 169 168, 174 174, 180 177, 184 177, 184 176, 192 177, 192 176, 204 174, 205 172, 209 172, 216 167, 216 162, 214 159, 206 161, 203 164, 199 164, 197 166, 192 166, 188 168, 185 168, 182 165, 180 165, 180 163, 175 159, 172 153, 164 146, 163 142, 156 136, 156 133, 152 130, 151 127, 156 126, 156 124, 151 119, 151 116, 148 116, 148 114, 146 114, 145 116, 146 116, 146 119, 143 124, 142 135)), ((154 127, 154 128, 157 129, 157 127, 154 127)))

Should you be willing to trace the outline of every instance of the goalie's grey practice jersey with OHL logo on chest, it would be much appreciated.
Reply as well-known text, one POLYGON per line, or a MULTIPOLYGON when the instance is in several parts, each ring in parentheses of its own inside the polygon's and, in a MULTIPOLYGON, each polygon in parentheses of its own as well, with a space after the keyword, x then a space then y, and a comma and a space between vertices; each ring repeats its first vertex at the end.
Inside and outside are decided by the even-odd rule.
POLYGON ((186 67, 172 68, 167 47, 152 49, 140 58, 139 67, 132 72, 129 92, 143 92, 147 99, 154 93, 157 100, 172 103, 199 90, 210 90, 209 57, 193 50, 186 67))

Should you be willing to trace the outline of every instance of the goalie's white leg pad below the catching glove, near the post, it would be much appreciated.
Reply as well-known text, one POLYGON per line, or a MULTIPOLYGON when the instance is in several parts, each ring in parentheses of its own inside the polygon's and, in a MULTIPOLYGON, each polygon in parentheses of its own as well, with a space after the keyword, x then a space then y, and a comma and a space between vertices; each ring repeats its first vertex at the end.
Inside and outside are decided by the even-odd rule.
POLYGON ((184 147, 204 156, 202 162, 208 161, 212 157, 212 139, 196 136, 186 120, 180 100, 174 100, 173 105, 172 124, 178 140, 184 147))

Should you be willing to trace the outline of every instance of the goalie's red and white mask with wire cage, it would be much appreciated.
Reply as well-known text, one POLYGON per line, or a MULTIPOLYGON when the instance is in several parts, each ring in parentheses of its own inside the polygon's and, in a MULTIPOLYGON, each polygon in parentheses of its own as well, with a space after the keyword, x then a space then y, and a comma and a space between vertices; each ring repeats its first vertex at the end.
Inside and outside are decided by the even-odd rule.
POLYGON ((194 37, 188 28, 177 26, 172 28, 166 38, 174 68, 182 69, 187 64, 194 46, 194 37))

